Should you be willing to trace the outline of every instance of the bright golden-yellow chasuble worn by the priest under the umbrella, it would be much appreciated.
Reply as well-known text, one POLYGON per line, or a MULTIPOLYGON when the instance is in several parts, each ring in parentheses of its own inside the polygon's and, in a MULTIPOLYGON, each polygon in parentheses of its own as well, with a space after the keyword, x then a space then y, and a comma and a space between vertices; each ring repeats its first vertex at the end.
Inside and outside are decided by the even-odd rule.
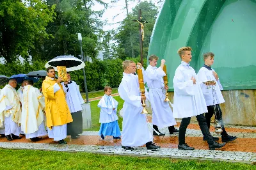
POLYGON ((45 77, 42 85, 45 97, 46 125, 50 129, 52 126, 65 125, 73 121, 62 85, 59 83, 60 89, 54 93, 55 83, 56 79, 52 80, 51 77, 45 77))

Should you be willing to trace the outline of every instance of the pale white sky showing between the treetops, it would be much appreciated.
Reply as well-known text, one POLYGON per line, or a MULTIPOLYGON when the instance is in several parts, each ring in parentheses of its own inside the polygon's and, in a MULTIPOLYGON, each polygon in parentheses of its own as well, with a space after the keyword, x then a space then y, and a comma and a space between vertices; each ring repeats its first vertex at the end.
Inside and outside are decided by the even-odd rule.
MULTIPOLYGON (((144 1, 148 1, 148 0, 144 0, 144 1)), ((156 6, 159 7, 160 4, 157 3, 158 1, 159 0, 152 0, 152 3, 156 4, 156 6)), ((108 8, 101 19, 101 20, 107 20, 107 23, 108 23, 106 26, 103 27, 103 30, 108 31, 111 29, 116 29, 119 26, 119 24, 113 24, 113 23, 121 22, 127 16, 126 10, 125 10, 125 0, 119 0, 117 3, 111 3, 111 0, 103 0, 103 2, 108 3, 108 8)), ((139 4, 139 2, 140 1, 138 0, 129 1, 128 12, 131 12, 132 8, 134 8, 136 4, 139 4)), ((99 11, 103 9, 104 9, 104 6, 99 3, 95 3, 95 5, 92 7, 92 10, 95 10, 95 11, 99 11)))

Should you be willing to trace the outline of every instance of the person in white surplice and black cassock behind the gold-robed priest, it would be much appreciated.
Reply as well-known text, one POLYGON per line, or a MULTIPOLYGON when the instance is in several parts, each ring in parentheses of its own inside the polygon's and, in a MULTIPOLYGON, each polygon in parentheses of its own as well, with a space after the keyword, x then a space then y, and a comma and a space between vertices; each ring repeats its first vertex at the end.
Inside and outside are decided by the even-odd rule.
POLYGON ((71 112, 73 121, 67 124, 67 135, 71 135, 72 139, 79 138, 79 134, 83 133, 83 117, 82 104, 83 97, 75 81, 71 81, 70 73, 67 72, 67 82, 61 82, 65 93, 68 108, 71 112))

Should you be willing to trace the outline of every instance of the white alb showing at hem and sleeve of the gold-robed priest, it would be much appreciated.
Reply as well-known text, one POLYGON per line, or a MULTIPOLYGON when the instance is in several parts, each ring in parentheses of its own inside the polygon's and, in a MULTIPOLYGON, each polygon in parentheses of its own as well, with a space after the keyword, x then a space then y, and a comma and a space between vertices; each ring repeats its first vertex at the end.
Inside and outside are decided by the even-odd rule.
MULTIPOLYGON (((51 78, 52 80, 54 78, 51 78)), ((60 90, 60 86, 55 83, 53 85, 53 93, 56 93, 58 90, 60 90)), ((67 89, 63 89, 65 93, 67 93, 67 89)), ((49 127, 47 127, 47 132, 48 132, 48 136, 49 138, 53 138, 54 141, 60 141, 62 139, 65 139, 67 137, 67 124, 64 125, 60 125, 60 126, 53 126, 52 129, 50 129, 49 127)))

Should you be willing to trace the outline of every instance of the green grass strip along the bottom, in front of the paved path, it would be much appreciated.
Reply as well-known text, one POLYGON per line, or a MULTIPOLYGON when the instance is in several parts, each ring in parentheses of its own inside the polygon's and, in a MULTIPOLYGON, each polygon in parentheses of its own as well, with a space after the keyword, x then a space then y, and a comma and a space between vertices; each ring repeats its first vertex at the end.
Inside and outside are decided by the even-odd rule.
POLYGON ((0 149, 0 169, 256 169, 228 162, 139 158, 83 152, 0 149))

